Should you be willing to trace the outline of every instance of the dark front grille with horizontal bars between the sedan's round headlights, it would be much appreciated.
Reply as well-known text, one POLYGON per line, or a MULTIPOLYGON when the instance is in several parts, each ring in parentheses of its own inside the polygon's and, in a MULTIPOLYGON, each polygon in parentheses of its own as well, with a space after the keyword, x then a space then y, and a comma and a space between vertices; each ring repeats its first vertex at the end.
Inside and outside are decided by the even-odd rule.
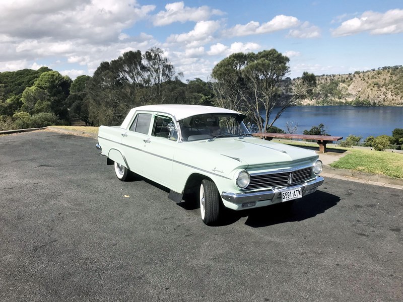
POLYGON ((249 185, 247 189, 260 189, 267 187, 287 186, 289 184, 300 182, 310 178, 312 175, 312 167, 303 168, 292 172, 268 173, 261 175, 250 175, 249 185))

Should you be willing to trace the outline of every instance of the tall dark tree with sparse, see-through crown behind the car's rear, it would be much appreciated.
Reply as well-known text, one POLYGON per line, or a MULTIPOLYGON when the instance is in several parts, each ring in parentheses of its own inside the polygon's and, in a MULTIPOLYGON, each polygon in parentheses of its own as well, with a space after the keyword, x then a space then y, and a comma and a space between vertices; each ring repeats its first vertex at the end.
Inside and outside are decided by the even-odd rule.
POLYGON ((173 65, 159 48, 127 51, 102 62, 86 88, 89 118, 95 124, 118 124, 132 107, 163 103, 162 84, 175 79, 173 65))

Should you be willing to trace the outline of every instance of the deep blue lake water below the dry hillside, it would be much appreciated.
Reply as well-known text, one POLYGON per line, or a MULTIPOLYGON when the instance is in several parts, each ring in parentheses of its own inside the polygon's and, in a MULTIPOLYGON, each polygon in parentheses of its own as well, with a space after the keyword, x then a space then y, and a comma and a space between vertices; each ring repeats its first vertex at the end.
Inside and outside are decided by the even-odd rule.
POLYGON ((363 138, 392 135, 394 128, 403 128, 403 107, 295 106, 287 108, 274 126, 287 131, 287 122, 298 124, 299 134, 322 123, 328 134, 344 138, 350 134, 363 138))

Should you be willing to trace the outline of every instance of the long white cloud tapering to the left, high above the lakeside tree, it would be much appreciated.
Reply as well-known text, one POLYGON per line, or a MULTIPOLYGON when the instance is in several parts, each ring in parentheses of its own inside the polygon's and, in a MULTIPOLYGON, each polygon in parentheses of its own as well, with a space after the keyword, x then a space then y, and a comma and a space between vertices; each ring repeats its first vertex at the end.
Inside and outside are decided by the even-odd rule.
POLYGON ((300 21, 296 17, 279 15, 274 17, 271 21, 266 23, 251 21, 245 25, 237 24, 234 27, 225 31, 229 36, 248 36, 256 34, 266 34, 283 29, 292 28, 298 26, 300 21))

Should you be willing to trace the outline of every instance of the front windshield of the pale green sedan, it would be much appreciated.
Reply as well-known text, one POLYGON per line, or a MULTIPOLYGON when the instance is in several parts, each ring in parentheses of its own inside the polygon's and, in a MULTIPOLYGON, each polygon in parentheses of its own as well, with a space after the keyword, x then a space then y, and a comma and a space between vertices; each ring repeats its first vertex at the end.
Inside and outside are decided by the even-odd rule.
POLYGON ((237 114, 200 114, 179 120, 183 141, 233 137, 249 133, 237 114))

